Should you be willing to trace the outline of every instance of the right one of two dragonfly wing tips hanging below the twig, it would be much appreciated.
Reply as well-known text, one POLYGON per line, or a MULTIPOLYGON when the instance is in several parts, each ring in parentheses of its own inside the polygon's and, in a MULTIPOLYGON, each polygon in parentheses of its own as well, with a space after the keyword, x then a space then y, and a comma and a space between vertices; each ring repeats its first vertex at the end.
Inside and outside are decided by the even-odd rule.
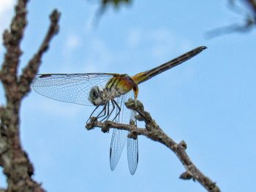
POLYGON ((127 159, 129 172, 131 174, 135 174, 137 166, 138 166, 138 139, 128 138, 127 140, 127 159))

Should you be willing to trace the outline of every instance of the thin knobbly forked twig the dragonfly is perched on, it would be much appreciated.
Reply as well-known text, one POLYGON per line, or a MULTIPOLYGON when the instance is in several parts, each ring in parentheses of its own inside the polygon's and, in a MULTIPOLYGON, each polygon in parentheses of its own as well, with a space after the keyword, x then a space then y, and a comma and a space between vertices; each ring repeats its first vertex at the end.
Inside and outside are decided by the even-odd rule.
POLYGON ((181 164, 183 164, 184 168, 186 169, 186 172, 181 174, 181 179, 197 180, 197 182, 203 185, 203 187, 206 188, 207 191, 220 191, 217 184, 211 181, 209 177, 206 177, 206 175, 200 172, 200 170, 197 169, 197 166, 193 164, 193 162, 189 158, 189 155, 187 155, 186 153, 186 142, 181 141, 177 144, 173 141, 173 139, 168 137, 167 134, 165 134, 165 132, 162 131, 162 129, 157 125, 155 120, 151 118, 151 115, 144 110, 143 104, 140 101, 129 99, 129 101, 126 103, 126 106, 128 109, 138 112, 138 115, 136 115, 135 118, 137 120, 143 120, 146 124, 146 128, 137 128, 135 125, 132 124, 127 125, 115 123, 112 121, 105 121, 105 123, 101 123, 98 122, 96 118, 91 118, 90 122, 86 124, 86 128, 90 130, 94 127, 99 127, 102 128, 103 132, 109 131, 110 128, 118 128, 121 130, 130 131, 128 137, 134 138, 138 135, 143 135, 156 142, 160 142, 176 154, 178 159, 181 161, 181 164))

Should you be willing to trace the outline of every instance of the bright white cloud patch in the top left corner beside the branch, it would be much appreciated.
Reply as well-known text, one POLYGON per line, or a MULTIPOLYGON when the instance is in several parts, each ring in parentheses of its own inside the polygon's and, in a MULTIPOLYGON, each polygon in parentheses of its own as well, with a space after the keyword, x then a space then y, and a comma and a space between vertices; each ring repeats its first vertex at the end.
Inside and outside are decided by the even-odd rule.
MULTIPOLYGON (((0 32, 3 33, 4 29, 8 27, 12 12, 14 0, 0 0, 0 32)), ((0 43, 2 44, 2 38, 0 38, 0 43)), ((2 51, 2 45, 0 46, 0 53, 2 51)))

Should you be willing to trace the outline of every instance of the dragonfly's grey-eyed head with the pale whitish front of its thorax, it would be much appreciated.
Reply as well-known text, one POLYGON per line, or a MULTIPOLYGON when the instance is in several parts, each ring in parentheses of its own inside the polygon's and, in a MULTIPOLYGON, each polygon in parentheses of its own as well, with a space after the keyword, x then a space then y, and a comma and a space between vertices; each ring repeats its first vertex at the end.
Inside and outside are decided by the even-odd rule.
POLYGON ((89 93, 89 101, 95 106, 105 105, 108 101, 121 96, 121 93, 116 88, 103 88, 100 89, 98 86, 91 88, 89 93))

